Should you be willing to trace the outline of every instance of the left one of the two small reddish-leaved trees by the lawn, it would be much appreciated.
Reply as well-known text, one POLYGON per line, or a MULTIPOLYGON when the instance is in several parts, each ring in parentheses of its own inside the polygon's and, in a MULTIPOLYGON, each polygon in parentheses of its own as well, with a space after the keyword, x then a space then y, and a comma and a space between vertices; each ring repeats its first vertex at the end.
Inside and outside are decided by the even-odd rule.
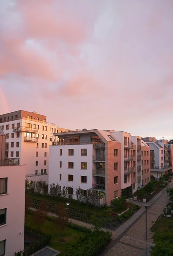
POLYGON ((39 206, 34 212, 34 223, 37 225, 38 230, 40 230, 41 225, 43 225, 43 223, 46 220, 48 207, 49 207, 48 202, 43 200, 40 202, 39 206))

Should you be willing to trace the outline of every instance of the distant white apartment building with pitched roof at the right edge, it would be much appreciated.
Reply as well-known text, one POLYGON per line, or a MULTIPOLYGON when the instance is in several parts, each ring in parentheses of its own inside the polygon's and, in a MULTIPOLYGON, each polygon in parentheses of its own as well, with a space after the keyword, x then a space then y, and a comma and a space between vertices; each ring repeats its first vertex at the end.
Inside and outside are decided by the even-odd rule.
POLYGON ((163 174, 172 172, 173 144, 154 137, 145 137, 143 140, 150 147, 151 175, 159 179, 163 174))

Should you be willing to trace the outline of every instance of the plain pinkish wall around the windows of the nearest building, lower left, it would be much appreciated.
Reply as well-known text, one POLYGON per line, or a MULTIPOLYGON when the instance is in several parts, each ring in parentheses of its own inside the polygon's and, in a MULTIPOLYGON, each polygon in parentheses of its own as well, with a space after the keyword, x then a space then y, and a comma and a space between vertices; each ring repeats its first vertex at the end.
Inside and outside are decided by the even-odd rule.
POLYGON ((6 256, 24 249, 25 168, 0 166, 0 178, 8 178, 8 194, 0 195, 0 209, 7 208, 6 225, 0 227, 0 241, 6 240, 6 256))

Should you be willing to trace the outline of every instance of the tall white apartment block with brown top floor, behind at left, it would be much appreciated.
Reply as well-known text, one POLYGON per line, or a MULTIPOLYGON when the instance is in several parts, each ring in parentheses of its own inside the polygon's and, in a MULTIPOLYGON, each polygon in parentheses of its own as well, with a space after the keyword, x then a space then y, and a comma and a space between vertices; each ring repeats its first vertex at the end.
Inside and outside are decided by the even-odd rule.
POLYGON ((48 183, 49 145, 57 141, 53 133, 68 130, 47 122, 44 115, 23 110, 0 115, 0 125, 6 135, 5 157, 26 164, 28 180, 48 183))

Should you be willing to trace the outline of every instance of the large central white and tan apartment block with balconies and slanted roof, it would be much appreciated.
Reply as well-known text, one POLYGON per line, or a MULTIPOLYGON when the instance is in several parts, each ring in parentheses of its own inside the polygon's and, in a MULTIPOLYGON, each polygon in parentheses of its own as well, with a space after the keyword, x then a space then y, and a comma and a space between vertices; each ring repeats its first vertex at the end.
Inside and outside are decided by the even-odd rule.
MULTIPOLYGON (((145 178, 138 184, 138 176, 142 177, 137 168, 141 163, 137 160, 141 137, 132 137, 132 142, 129 133, 98 129, 76 129, 54 136, 58 141, 55 146, 50 146, 49 184, 73 187, 72 190, 69 188, 69 193, 73 193, 74 198, 77 187, 80 186, 82 195, 93 188, 100 197, 100 204, 109 205, 121 194, 132 195, 138 186, 142 186, 141 180, 145 185, 145 178)), ((149 151, 145 143, 144 146, 149 151)), ((150 154, 147 157, 149 159, 150 154)), ((146 177, 150 175, 150 164, 148 167, 146 177)))

